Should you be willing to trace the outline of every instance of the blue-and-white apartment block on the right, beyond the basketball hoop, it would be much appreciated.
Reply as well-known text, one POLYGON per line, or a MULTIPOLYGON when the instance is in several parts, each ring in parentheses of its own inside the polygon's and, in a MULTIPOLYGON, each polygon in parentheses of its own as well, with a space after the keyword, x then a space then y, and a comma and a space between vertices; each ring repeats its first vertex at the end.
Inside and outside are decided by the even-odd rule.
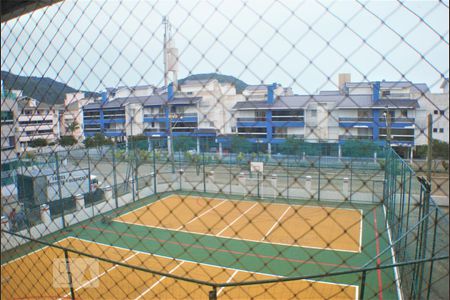
POLYGON ((276 93, 277 88, 276 84, 265 87, 266 100, 261 100, 263 93, 258 92, 258 97, 247 97, 233 106, 235 134, 266 144, 268 152, 288 137, 310 142, 365 139, 384 143, 390 134, 394 147, 422 143, 416 137, 426 119, 426 109, 419 104, 430 94, 426 84, 351 82, 349 74, 341 74, 336 91, 292 95, 276 93))

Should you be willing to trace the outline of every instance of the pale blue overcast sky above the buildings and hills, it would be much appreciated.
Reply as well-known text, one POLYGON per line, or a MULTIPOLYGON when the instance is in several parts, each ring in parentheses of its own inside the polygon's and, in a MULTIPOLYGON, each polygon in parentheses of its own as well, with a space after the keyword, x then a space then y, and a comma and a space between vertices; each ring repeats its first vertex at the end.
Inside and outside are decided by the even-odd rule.
POLYGON ((409 80, 438 92, 449 72, 448 1, 67 0, 1 25, 1 69, 90 91, 162 86, 162 18, 178 77, 218 72, 294 93, 409 80))

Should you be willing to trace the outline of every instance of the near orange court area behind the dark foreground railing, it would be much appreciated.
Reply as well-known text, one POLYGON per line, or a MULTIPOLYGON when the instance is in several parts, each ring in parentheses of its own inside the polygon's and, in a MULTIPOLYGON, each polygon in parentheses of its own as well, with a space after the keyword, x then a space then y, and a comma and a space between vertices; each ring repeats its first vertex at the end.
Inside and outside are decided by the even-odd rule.
MULTIPOLYGON (((168 258, 115 246, 66 238, 59 245, 169 274, 212 282, 239 282, 274 278, 186 260, 168 258)), ((2 299, 70 298, 69 288, 54 284, 54 262, 64 258, 62 250, 45 247, 5 263, 2 271, 2 299), (32 272, 30 272, 32 270, 32 272), (14 288, 12 287, 21 287, 14 288), (26 294, 24 294, 26 293, 26 294)), ((80 258, 70 253, 71 259, 80 258)), ((86 258, 86 257, 83 257, 86 258)), ((210 287, 182 282, 131 268, 96 261, 98 272, 73 278, 76 299, 207 299, 210 287)), ((77 266, 72 264, 74 270, 77 266)), ((76 273, 76 272, 74 272, 76 273)), ((77 276, 75 276, 77 277, 77 276)), ((356 299, 358 287, 317 281, 296 281, 217 290, 219 299, 356 299)))

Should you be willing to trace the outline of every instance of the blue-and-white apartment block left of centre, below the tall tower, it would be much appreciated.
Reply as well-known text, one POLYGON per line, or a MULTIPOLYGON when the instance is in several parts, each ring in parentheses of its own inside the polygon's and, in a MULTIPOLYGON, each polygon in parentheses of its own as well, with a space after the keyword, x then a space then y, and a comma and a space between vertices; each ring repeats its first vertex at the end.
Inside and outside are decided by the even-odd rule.
POLYGON ((217 80, 188 80, 178 91, 173 85, 107 89, 101 101, 83 106, 84 135, 102 133, 117 141, 135 135, 214 139, 231 130, 235 97, 233 85, 217 80))

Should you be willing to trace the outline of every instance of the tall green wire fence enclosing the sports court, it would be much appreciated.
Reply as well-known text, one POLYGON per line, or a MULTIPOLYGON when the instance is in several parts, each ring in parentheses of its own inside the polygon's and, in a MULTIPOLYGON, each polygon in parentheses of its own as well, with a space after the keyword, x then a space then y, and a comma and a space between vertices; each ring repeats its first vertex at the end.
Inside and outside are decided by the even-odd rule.
MULTIPOLYGON (((354 148, 357 144, 351 145, 354 148)), ((305 151, 300 148, 297 154, 288 151, 272 155, 177 151, 172 160, 166 149, 149 147, 147 141, 140 141, 97 149, 66 150, 54 153, 53 157, 47 154, 47 160, 54 162, 57 168, 73 171, 87 168, 89 176, 97 178, 98 190, 102 191, 100 197, 91 190, 91 179, 88 187, 80 185, 72 191, 73 196, 84 194, 88 216, 83 220, 77 219, 79 215, 74 198, 56 199, 47 204, 51 204, 54 220, 60 218, 63 226, 81 221, 96 222, 100 216, 115 215, 116 210, 126 210, 130 205, 138 205, 149 197, 164 193, 264 198, 264 201, 289 204, 330 203, 336 207, 365 210, 375 207, 386 214, 386 224, 380 235, 388 237, 387 246, 354 270, 236 283, 192 281, 164 272, 159 275, 208 285, 212 296, 222 287, 350 276, 360 287, 360 298, 363 299, 369 293, 366 281, 373 280, 377 270, 390 270, 395 274, 392 285, 405 299, 438 299, 445 295, 448 282, 448 214, 433 201, 428 183, 419 179, 391 148, 363 144, 358 151, 345 152, 342 150, 345 147, 339 145, 316 143, 307 147, 305 151), (323 153, 323 147, 338 147, 341 150, 335 157, 313 155, 323 153), (343 153, 356 154, 353 157, 343 153), (252 161, 264 163, 262 174, 251 172, 249 163, 252 161), (85 190, 86 187, 88 190, 85 190), (105 195, 108 191, 110 196, 105 195), (70 221, 67 221, 67 216, 71 216, 70 221)), ((37 155, 35 160, 43 160, 42 157, 37 155)), ((64 188, 64 185, 59 186, 59 189, 64 188)), ((23 200, 19 199, 18 203, 23 200)), ((32 231, 32 227, 39 223, 39 206, 24 208, 25 216, 30 216, 25 222, 26 227, 32 231)), ((24 236, 24 231, 20 231, 22 229, 17 228, 14 234, 49 245, 39 238, 24 236)), ((82 251, 64 250, 92 257, 82 251)), ((102 257, 96 259, 107 261, 102 257)), ((120 261, 114 263, 136 268, 120 261)), ((147 269, 145 272, 155 273, 147 269)))

